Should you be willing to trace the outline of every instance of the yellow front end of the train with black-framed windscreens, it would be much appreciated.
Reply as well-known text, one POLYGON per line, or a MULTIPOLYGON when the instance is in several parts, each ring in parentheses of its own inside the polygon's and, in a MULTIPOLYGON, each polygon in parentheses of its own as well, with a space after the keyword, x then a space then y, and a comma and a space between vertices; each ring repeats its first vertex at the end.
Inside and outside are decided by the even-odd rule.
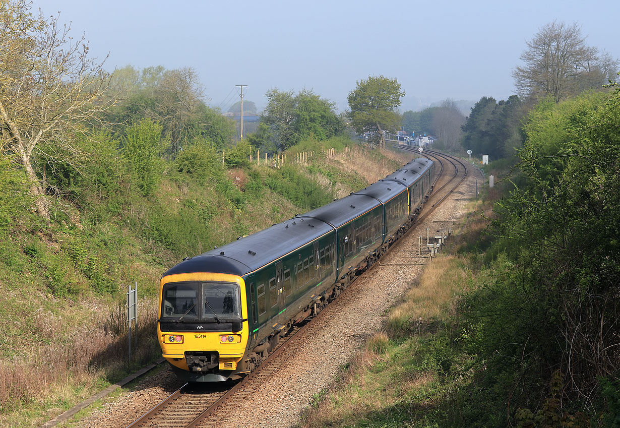
POLYGON ((162 355, 185 381, 234 378, 249 336, 244 280, 218 272, 174 273, 195 270, 188 265, 175 266, 161 279, 157 333, 162 355))

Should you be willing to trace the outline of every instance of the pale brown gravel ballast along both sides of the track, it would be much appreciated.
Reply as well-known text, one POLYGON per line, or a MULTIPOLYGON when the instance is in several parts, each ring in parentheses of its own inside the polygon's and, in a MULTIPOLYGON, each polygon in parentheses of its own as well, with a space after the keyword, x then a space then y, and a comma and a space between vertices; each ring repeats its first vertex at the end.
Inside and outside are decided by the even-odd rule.
MULTIPOLYGON (((380 263, 374 264, 327 307, 321 322, 299 337, 303 345, 283 351, 281 370, 254 391, 244 408, 229 409, 231 416, 221 427, 275 428, 298 423, 313 395, 327 388, 341 367, 360 350, 366 337, 381 328, 384 312, 422 272, 428 259, 417 257, 418 236, 425 236, 427 228, 433 234, 454 228, 467 213, 466 204, 474 197, 476 178, 481 181, 480 173, 472 170, 461 190, 448 197, 440 209, 410 231, 380 263)), ((164 371, 146 378, 135 390, 105 404, 75 426, 124 428, 179 386, 174 375, 164 371)))

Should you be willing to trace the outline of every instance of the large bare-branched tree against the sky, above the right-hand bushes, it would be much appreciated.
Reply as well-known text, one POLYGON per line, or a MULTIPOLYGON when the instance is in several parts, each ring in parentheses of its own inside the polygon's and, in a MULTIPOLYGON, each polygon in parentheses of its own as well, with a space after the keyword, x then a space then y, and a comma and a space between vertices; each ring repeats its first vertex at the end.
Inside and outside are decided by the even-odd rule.
POLYGON ((552 96, 556 102, 583 89, 601 87, 617 71, 618 60, 588 47, 577 23, 551 22, 527 42, 513 70, 520 95, 552 96))

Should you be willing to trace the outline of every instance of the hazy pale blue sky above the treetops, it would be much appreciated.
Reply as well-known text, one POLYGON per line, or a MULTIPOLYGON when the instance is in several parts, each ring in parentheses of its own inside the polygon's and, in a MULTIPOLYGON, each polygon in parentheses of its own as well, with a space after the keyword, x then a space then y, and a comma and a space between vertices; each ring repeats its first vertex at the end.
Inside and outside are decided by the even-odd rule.
POLYGON ((105 68, 193 67, 212 107, 265 92, 313 89, 348 108, 356 81, 397 78, 401 111, 451 98, 506 99, 525 42, 552 20, 578 22, 586 43, 620 57, 620 3, 512 1, 34 0, 86 33, 105 68))

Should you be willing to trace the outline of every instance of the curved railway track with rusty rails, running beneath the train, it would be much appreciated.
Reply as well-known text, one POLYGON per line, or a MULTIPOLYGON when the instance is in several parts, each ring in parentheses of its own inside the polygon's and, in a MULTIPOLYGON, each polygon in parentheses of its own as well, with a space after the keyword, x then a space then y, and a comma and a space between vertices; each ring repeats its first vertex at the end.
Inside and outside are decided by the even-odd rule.
MULTIPOLYGON (((408 146, 400 146, 400 148, 417 152, 417 149, 409 148, 408 146)), ((432 150, 425 150, 424 155, 437 161, 440 171, 436 171, 436 180, 433 183, 432 192, 414 225, 420 223, 439 207, 441 202, 443 202, 449 194, 454 192, 464 179, 466 179, 468 173, 466 163, 461 161, 461 159, 432 150), (445 171, 446 169, 450 171, 445 171), (451 172, 451 169, 454 169, 453 174, 446 177, 446 175, 451 172), (460 180, 458 180, 459 177, 460 180), (431 202, 432 205, 429 205, 431 202)), ((409 234, 414 228, 414 226, 409 228, 404 236, 409 234)), ((397 244, 399 241, 402 241, 402 238, 393 245, 397 244)), ((354 283, 361 275, 363 275, 363 273, 357 275, 351 283, 354 283)), ((341 295, 345 295, 347 291, 348 290, 343 291, 341 295)), ((280 369, 283 363, 278 359, 280 353, 284 349, 294 346, 296 342, 295 337, 297 337, 300 332, 312 329, 312 326, 319 323, 323 315, 324 311, 319 312, 316 317, 306 321, 301 327, 294 327, 286 336, 281 337, 279 346, 269 355, 268 359, 241 381, 207 385, 185 384, 179 388, 179 390, 157 404, 153 409, 139 417, 135 422, 130 424, 128 428, 190 428, 199 426, 219 426, 220 418, 228 416, 228 412, 226 412, 225 409, 243 408, 244 399, 252 394, 253 389, 280 369)))

